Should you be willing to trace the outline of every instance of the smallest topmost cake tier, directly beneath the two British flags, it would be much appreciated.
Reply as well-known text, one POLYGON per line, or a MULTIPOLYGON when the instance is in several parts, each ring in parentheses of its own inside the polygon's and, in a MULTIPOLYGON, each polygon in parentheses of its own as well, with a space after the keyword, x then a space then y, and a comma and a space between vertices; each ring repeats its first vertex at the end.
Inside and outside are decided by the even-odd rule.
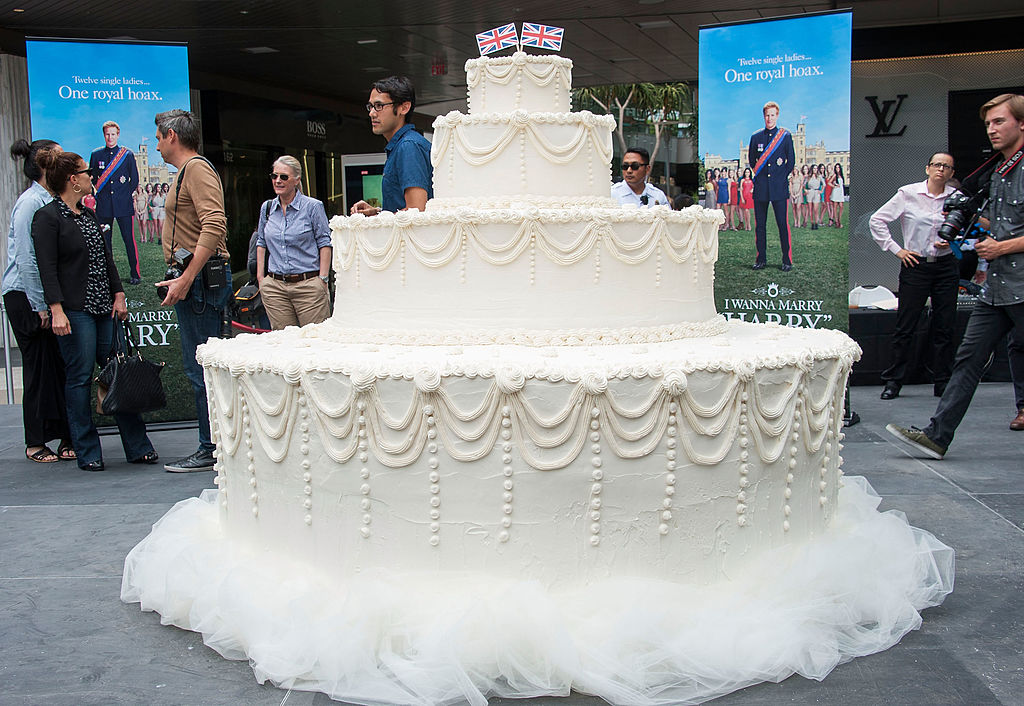
POLYGON ((572 110, 572 61, 517 51, 466 61, 470 113, 572 110))

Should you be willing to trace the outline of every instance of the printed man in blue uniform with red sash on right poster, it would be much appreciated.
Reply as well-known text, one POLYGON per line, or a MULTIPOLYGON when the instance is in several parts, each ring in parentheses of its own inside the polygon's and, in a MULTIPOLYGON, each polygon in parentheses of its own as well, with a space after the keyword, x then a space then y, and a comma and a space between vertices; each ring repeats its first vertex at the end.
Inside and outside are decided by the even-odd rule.
POLYGON ((793 269, 793 244, 786 207, 790 199, 790 173, 797 157, 793 149, 793 135, 777 125, 780 109, 769 100, 761 110, 765 129, 751 135, 748 163, 754 171, 754 223, 758 257, 754 269, 764 269, 768 263, 767 229, 768 206, 771 205, 778 225, 778 242, 782 249, 782 272, 793 269))

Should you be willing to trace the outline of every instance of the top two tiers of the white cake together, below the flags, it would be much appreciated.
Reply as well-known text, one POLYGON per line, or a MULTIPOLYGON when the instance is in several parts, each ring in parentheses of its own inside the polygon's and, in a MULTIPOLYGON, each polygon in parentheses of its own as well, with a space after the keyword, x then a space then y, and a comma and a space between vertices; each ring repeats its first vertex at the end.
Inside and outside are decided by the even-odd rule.
POLYGON ((567 58, 521 51, 466 61, 469 114, 433 124, 430 208, 616 206, 615 120, 570 112, 571 69, 567 58))

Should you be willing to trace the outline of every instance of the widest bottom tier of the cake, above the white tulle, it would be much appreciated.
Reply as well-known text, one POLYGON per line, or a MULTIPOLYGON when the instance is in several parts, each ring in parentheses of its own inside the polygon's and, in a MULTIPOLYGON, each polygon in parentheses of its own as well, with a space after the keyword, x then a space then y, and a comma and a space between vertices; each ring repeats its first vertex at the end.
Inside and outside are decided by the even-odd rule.
POLYGON ((835 510, 859 355, 842 333, 732 323, 594 349, 344 344, 328 330, 200 348, 240 541, 304 545, 342 574, 707 582, 835 510))

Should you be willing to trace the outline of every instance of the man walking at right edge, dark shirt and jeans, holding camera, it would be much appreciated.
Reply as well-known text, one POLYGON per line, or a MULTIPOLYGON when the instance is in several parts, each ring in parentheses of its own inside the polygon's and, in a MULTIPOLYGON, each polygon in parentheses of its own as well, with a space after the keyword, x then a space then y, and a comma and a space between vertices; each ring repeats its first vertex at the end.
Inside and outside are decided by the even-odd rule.
MULTIPOLYGON (((949 448, 996 344, 1007 333, 1018 349, 1024 340, 1024 96, 998 95, 981 107, 981 117, 996 153, 990 160, 991 168, 978 180, 979 193, 987 196, 979 222, 991 237, 979 239, 975 249, 989 262, 988 278, 971 313, 952 376, 931 423, 924 429, 886 426, 896 439, 935 459, 941 459, 949 448)), ((971 191, 968 183, 964 189, 971 191)), ((952 212, 946 223, 951 219, 956 219, 952 212)), ((1024 371, 1019 367, 1020 356, 1011 356, 1011 372, 1017 381, 1024 380, 1024 371)), ((1015 383, 1018 415, 1012 428, 1016 428, 1018 420, 1024 425, 1024 400, 1020 399, 1019 386, 1015 383)))

